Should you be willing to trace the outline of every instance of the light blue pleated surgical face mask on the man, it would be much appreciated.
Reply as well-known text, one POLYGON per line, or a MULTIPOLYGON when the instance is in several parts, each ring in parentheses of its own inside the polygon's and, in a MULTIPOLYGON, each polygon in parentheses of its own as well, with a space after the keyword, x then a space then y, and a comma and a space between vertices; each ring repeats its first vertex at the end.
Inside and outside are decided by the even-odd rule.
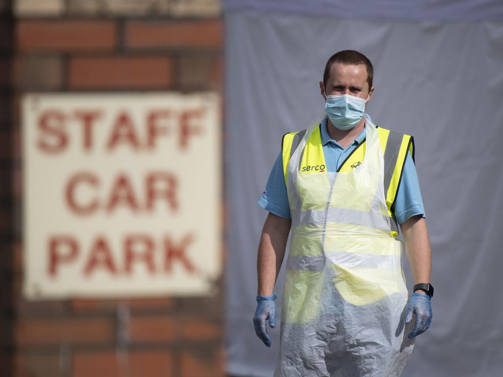
POLYGON ((369 97, 364 100, 350 95, 326 96, 326 115, 336 128, 342 131, 351 130, 365 115, 365 104, 369 97))

